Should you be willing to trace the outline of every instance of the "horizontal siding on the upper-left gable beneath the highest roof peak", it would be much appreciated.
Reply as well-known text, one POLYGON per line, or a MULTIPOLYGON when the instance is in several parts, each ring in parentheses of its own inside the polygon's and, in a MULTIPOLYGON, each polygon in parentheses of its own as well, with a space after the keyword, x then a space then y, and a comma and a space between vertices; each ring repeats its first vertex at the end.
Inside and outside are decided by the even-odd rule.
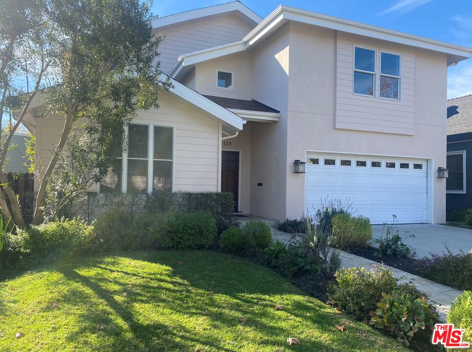
POLYGON ((237 42, 252 28, 234 15, 225 15, 166 29, 159 45, 162 71, 167 73, 181 54, 237 42))

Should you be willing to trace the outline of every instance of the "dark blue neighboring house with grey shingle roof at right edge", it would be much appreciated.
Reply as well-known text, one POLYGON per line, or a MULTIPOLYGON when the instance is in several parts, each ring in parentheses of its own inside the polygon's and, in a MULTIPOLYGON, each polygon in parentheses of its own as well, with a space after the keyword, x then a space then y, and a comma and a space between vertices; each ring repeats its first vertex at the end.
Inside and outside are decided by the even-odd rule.
POLYGON ((448 100, 447 158, 446 208, 472 208, 472 95, 448 100))

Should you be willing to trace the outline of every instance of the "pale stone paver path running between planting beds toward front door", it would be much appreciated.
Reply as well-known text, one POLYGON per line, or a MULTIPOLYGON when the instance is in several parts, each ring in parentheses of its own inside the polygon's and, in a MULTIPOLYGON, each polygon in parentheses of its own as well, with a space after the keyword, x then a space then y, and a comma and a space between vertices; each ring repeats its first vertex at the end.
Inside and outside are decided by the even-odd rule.
MULTIPOLYGON (((271 231, 274 240, 287 243, 292 238, 292 235, 286 232, 281 232, 274 228, 271 228, 271 231)), ((341 265, 343 267, 365 267, 366 270, 376 270, 377 267, 382 266, 382 264, 369 259, 365 259, 338 249, 335 250, 339 252, 341 265)), ((429 301, 437 305, 436 308, 438 309, 439 318, 442 322, 446 322, 446 317, 450 310, 451 302, 453 302, 457 296, 464 293, 463 291, 457 290, 455 288, 435 283, 434 281, 424 279, 388 265, 383 265, 383 267, 392 270, 395 277, 401 278, 400 282, 412 282, 416 287, 418 287, 418 289, 426 292, 429 295, 429 301)))

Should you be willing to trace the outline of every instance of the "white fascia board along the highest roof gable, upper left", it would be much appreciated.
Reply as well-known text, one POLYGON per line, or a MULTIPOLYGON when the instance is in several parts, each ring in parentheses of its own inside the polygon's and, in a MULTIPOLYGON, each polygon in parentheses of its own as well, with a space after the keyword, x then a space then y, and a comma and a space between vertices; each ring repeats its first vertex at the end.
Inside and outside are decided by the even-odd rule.
POLYGON ((153 20, 152 26, 154 29, 157 28, 163 28, 163 27, 170 27, 174 24, 182 23, 184 24, 185 22, 194 22, 198 19, 203 19, 206 17, 215 17, 218 15, 223 15, 228 12, 235 12, 238 11, 244 17, 246 17, 247 21, 249 22, 248 24, 252 25, 257 25, 262 21, 262 18, 252 12, 249 8, 247 8, 245 5, 243 5, 239 1, 233 1, 233 2, 227 2, 221 5, 215 5, 215 6, 208 6, 208 7, 203 7, 200 9, 196 10, 190 10, 190 11, 185 11, 181 12, 175 15, 169 15, 161 18, 157 18, 156 20, 153 20))

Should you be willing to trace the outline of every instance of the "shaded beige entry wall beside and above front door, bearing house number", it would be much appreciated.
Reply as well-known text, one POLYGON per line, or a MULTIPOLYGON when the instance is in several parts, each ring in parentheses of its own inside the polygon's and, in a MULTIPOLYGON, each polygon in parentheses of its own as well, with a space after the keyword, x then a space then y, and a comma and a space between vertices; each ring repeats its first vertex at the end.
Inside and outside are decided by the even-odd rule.
POLYGON ((250 214, 250 171, 251 171, 251 126, 252 122, 247 122, 243 131, 234 138, 225 139, 222 145, 223 150, 237 151, 240 153, 239 165, 239 211, 243 214, 250 214))

